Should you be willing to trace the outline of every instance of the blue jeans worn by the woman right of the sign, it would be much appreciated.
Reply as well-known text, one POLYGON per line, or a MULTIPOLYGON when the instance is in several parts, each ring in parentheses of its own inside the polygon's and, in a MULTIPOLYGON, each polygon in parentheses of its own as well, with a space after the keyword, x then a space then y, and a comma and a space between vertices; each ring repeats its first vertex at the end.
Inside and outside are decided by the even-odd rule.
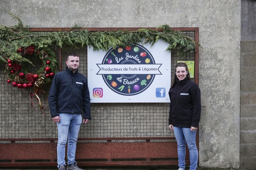
POLYGON ((196 131, 190 128, 173 126, 174 136, 178 144, 178 161, 179 168, 185 169, 185 142, 187 143, 190 155, 190 170, 196 170, 198 151, 196 147, 196 131))

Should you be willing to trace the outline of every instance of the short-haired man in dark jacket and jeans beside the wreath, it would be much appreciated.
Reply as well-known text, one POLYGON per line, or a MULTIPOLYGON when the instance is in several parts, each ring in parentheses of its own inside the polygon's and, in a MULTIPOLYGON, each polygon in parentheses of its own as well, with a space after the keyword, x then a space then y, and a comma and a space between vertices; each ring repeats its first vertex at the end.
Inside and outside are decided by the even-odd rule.
POLYGON ((81 170, 75 161, 76 142, 81 123, 88 123, 90 115, 90 95, 86 77, 78 73, 79 57, 70 54, 65 71, 57 73, 49 93, 49 107, 52 121, 58 127, 58 168, 65 170, 65 145, 68 139, 67 170, 81 170), (82 108, 84 119, 82 121, 82 108))

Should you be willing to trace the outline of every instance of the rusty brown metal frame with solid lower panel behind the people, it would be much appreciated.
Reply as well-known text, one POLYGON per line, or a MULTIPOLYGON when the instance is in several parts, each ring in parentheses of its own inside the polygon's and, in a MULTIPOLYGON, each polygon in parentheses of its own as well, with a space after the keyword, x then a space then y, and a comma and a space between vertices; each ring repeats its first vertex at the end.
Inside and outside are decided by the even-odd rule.
MULTIPOLYGON (((89 31, 117 31, 137 30, 139 28, 82 28, 89 31)), ((148 28, 156 30, 156 28, 148 28)), ((70 31, 71 28, 30 28, 32 32, 70 31)), ((172 28, 179 31, 194 31, 194 39, 199 42, 199 28, 172 28)), ((161 31, 159 29, 159 31, 161 31)), ((199 47, 196 44, 195 52, 195 83, 199 84, 199 47)), ((61 70, 61 48, 59 48, 61 70)), ((196 136, 199 148, 199 129, 196 136)), ((57 165, 57 138, 6 138, 0 141, 0 167, 35 167, 57 165), (27 141, 20 143, 16 141, 27 141), (29 141, 45 141, 46 143, 28 143, 29 141)), ((80 138, 78 142, 76 160, 80 166, 139 166, 139 165, 177 165, 177 144, 174 137, 149 138, 80 138), (144 140, 139 142, 114 142, 115 140, 144 140), (155 142, 154 140, 171 140, 155 142)), ((186 151, 188 153, 188 151, 186 151)), ((186 164, 189 164, 189 155, 186 154, 186 164)))

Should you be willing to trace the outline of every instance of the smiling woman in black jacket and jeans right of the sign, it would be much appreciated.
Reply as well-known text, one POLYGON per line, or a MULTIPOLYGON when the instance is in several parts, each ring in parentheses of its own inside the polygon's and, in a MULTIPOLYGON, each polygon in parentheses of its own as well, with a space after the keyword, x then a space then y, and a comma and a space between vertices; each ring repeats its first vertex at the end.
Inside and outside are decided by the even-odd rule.
POLYGON ((198 85, 190 80, 187 65, 177 63, 169 90, 169 128, 174 131, 178 144, 179 169, 185 170, 185 142, 190 153, 190 170, 196 170, 198 151, 196 130, 200 121, 201 97, 198 85))

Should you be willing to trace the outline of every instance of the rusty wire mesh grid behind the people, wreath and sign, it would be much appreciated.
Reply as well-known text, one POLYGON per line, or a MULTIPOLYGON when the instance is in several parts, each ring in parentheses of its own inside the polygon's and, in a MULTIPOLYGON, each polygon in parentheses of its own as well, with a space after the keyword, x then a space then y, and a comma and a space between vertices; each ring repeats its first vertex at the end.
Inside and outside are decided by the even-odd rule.
MULTIPOLYGON (((194 32, 184 32, 194 39, 194 32)), ((59 49, 51 47, 57 58, 59 49)), ((193 61, 194 52, 179 58, 177 52, 180 47, 171 52, 171 77, 178 60, 193 61)), ((79 72, 87 76, 87 47, 62 48, 62 70, 66 67, 66 57, 70 53, 80 56, 79 72)), ((39 58, 29 58, 41 67, 39 58)), ((49 85, 43 86, 39 92, 40 99, 45 106, 40 110, 37 99, 33 96, 33 88, 18 89, 6 83, 7 77, 3 73, 5 65, 0 65, 0 138, 57 138, 57 124, 51 120, 47 94, 49 85)), ((35 70, 31 67, 31 71, 35 70)), ((173 137, 168 127, 169 103, 92 103, 92 120, 82 124, 80 138, 127 138, 127 137, 173 137)))

